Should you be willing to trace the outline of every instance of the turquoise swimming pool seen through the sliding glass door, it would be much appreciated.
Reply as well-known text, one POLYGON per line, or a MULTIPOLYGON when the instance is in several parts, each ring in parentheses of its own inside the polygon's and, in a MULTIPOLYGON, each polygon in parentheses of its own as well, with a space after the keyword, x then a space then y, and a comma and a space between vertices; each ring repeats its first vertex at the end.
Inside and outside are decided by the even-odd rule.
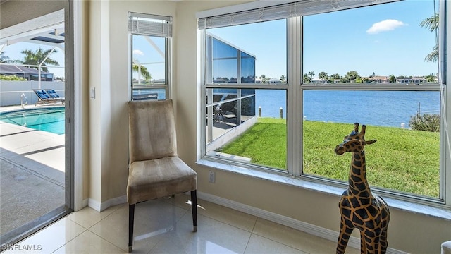
POLYGON ((39 131, 64 134, 64 107, 22 109, 0 113, 0 121, 39 131))

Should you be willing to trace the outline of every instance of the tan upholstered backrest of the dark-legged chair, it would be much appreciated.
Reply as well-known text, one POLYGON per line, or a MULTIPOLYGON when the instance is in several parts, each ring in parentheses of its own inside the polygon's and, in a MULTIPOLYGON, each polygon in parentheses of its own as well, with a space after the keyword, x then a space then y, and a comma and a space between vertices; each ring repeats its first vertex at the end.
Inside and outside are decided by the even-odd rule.
POLYGON ((172 99, 128 102, 130 163, 177 156, 172 99))

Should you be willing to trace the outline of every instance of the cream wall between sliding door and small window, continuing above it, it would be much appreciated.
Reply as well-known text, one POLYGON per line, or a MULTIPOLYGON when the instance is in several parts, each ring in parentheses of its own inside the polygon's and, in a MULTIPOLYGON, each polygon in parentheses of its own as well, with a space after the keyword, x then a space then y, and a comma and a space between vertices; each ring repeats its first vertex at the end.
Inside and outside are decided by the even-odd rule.
POLYGON ((89 204, 125 202, 128 177, 128 11, 175 16, 173 1, 89 1, 89 204))

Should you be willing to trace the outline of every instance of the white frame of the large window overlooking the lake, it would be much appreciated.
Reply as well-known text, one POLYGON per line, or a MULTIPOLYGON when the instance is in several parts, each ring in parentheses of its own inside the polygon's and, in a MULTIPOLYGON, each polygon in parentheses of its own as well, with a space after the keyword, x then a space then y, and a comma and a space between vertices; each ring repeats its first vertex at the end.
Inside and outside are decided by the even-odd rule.
MULTIPOLYGON (((244 6, 244 5, 242 5, 244 6)), ((248 5, 252 6, 252 5, 248 5)), ((237 10, 237 6, 230 8, 231 10, 237 10)), ((445 1, 440 1, 440 16, 446 17, 445 10, 447 8, 447 4, 445 1)), ((227 9, 227 8, 226 8, 227 9)), ((216 10, 214 13, 218 13, 216 10)), ((230 11, 232 13, 232 11, 230 11)), ((318 13, 319 14, 319 13, 318 13)), ((205 13, 202 15, 206 16, 205 13)), ((439 28, 445 28, 445 24, 449 23, 445 18, 440 19, 439 28)), ((281 85, 261 85, 261 84, 214 84, 214 83, 206 83, 206 31, 207 29, 198 30, 199 41, 201 46, 201 98, 205 98, 206 90, 213 88, 250 88, 252 89, 280 89, 287 90, 287 171, 275 171, 273 169, 269 169, 267 167, 261 167, 254 164, 247 164, 242 162, 236 162, 230 159, 223 159, 217 157, 211 157, 206 155, 206 128, 205 124, 200 124, 201 128, 201 142, 200 142, 200 159, 201 161, 209 161, 209 162, 217 162, 218 165, 222 164, 221 169, 225 169, 228 171, 236 171, 237 168, 239 170, 247 171, 247 174, 254 175, 254 170, 261 171, 264 174, 272 174, 274 176, 288 176, 290 178, 295 178, 299 181, 309 181, 313 183, 324 184, 324 188, 321 188, 319 191, 326 191, 326 186, 335 186, 339 188, 343 188, 347 186, 347 183, 343 181, 338 181, 334 179, 325 179, 321 176, 312 176, 302 173, 302 93, 304 90, 385 90, 385 91, 435 91, 443 92, 440 94, 444 96, 444 98, 440 99, 440 193, 438 198, 433 197, 424 197, 421 195, 416 195, 414 193, 402 193, 396 190, 387 190, 378 187, 371 187, 376 193, 381 193, 384 196, 388 196, 390 198, 394 198, 395 200, 402 200, 407 202, 419 203, 421 205, 442 207, 446 209, 451 208, 451 190, 449 186, 451 186, 451 163, 450 159, 447 159, 447 155, 450 155, 450 147, 449 143, 447 143, 447 133, 450 131, 449 123, 450 119, 450 111, 446 111, 445 109, 450 108, 450 96, 451 91, 447 90, 447 68, 445 65, 446 60, 440 57, 440 65, 443 67, 440 69, 440 80, 437 84, 427 84, 427 85, 416 85, 409 86, 406 89, 405 85, 377 85, 371 86, 368 85, 358 85, 352 83, 336 83, 336 84, 328 84, 327 86, 318 86, 308 83, 303 83, 303 75, 304 70, 302 68, 302 16, 287 18, 287 83, 281 85)), ((445 29, 439 29, 440 33, 440 56, 446 56, 446 48, 450 45, 450 42, 447 42, 447 31, 445 29)), ((205 99, 201 99, 201 109, 202 116, 206 116, 206 102, 205 99)), ((201 117, 201 119, 204 119, 201 117)), ((198 162, 199 164, 206 164, 204 162, 198 162)), ((271 176, 268 178, 271 179, 271 176)))

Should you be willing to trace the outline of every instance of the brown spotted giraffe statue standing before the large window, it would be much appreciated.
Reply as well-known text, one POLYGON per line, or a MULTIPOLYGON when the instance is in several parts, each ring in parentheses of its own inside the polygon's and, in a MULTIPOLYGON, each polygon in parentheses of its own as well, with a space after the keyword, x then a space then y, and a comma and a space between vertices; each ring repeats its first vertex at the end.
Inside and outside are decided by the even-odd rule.
POLYGON ((335 147, 337 155, 352 152, 349 187, 343 192, 338 203, 341 221, 337 253, 345 253, 347 242, 354 229, 360 231, 360 253, 385 253, 388 246, 387 229, 390 221, 388 205, 381 197, 371 193, 369 183, 366 181, 364 147, 375 143, 376 140, 366 141, 365 130, 366 126, 362 125, 362 131, 359 133, 359 123, 354 123, 354 130, 335 147))

